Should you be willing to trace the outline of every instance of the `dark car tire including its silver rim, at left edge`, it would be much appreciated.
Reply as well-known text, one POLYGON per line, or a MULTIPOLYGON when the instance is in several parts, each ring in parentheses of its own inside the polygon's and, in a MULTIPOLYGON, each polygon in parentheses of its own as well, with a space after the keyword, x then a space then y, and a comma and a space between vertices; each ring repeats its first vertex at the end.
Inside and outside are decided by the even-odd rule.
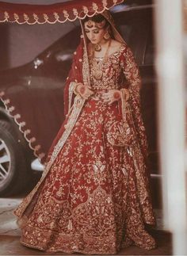
POLYGON ((28 180, 29 168, 17 134, 10 122, 0 120, 0 197, 21 192, 28 180))

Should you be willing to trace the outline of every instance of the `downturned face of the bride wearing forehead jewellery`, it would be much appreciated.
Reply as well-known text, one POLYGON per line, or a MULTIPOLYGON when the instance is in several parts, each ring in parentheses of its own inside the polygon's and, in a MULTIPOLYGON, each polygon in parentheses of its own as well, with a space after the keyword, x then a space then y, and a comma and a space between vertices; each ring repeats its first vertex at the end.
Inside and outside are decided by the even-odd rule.
POLYGON ((85 22, 85 32, 86 36, 90 40, 92 44, 99 44, 105 35, 105 29, 99 28, 97 23, 94 21, 86 21, 85 22))

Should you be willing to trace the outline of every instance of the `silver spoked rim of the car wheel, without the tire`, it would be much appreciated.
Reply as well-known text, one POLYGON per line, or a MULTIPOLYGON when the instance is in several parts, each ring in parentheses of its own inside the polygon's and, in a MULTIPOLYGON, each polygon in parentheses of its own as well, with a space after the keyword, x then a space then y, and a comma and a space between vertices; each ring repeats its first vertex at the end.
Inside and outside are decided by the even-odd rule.
POLYGON ((2 186, 10 174, 10 150, 4 140, 0 139, 0 186, 2 186))

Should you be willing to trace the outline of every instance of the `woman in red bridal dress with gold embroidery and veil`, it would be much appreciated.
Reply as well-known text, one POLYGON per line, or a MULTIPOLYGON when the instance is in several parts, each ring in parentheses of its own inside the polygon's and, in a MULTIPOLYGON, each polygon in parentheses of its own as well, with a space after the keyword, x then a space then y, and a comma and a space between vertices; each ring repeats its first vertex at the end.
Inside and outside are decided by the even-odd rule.
POLYGON ((151 250, 155 224, 139 71, 108 11, 81 21, 64 90, 66 120, 36 187, 14 211, 21 243, 46 251, 151 250))

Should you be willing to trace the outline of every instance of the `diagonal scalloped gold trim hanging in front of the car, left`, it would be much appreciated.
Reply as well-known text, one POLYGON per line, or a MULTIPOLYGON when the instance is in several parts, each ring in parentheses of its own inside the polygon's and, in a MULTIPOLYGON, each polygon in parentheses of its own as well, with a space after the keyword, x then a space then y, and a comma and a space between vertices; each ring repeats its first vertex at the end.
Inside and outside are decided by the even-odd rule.
POLYGON ((15 121, 15 123, 18 125, 19 131, 24 135, 26 141, 29 143, 29 147, 32 149, 34 155, 38 158, 38 159, 43 159, 45 156, 44 152, 40 152, 40 148, 41 145, 40 144, 36 144, 36 146, 33 146, 32 143, 36 143, 36 138, 32 136, 32 131, 30 128, 25 128, 26 123, 24 120, 21 120, 21 114, 20 113, 16 113, 16 114, 11 114, 11 112, 13 112, 15 110, 15 107, 13 105, 10 105, 10 99, 9 98, 3 98, 5 96, 5 92, 2 91, 0 93, 0 99, 2 100, 3 104, 6 107, 6 111, 7 113, 10 115, 10 117, 13 118, 13 120, 15 121), (29 138, 30 135, 30 138, 29 138))

